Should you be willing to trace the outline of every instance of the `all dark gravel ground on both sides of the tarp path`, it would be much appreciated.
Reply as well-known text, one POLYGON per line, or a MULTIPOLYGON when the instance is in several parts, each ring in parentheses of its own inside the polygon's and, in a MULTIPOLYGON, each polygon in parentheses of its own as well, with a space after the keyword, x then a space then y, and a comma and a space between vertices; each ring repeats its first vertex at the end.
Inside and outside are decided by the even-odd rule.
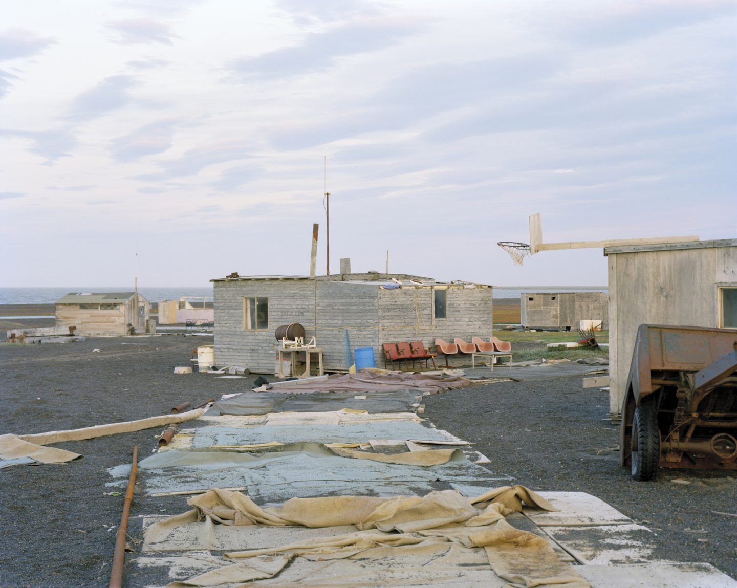
MULTIPOLYGON (((251 388, 254 377, 172 373, 187 365, 195 346, 211 342, 212 337, 167 335, 1 345, 0 433, 142 419, 168 413, 185 400, 197 404, 251 388), (102 351, 92 353, 96 347, 102 351)), ((663 540, 657 556, 709 561, 737 577, 737 519, 711 512, 737 511, 737 476, 663 472, 655 483, 635 483, 614 452, 601 452, 618 444, 618 430, 603 420, 606 394, 581 390, 580 378, 477 386, 427 397, 425 405, 425 416, 438 427, 477 443, 496 472, 534 489, 595 494, 654 529, 663 540), (671 483, 675 477, 691 484, 671 483)), ((111 481, 107 469, 130 462, 136 444, 144 458, 160 432, 60 444, 84 458, 1 470, 0 587, 107 584, 123 502, 103 494, 111 481)), ((182 497, 138 498, 131 517, 185 509, 182 497)), ((136 548, 140 519, 132 519, 129 533, 136 548)))

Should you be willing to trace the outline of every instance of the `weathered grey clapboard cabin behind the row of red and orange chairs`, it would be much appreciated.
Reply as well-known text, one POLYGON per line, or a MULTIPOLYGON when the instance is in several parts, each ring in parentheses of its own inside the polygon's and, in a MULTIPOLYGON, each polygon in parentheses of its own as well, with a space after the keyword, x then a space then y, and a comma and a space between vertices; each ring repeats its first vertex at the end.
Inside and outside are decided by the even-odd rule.
POLYGON ((215 365, 236 365, 257 374, 275 372, 274 333, 290 323, 304 326, 306 341, 316 338, 326 371, 352 365, 346 357, 346 334, 351 357, 356 348, 371 347, 378 367, 383 366, 382 343, 422 341, 430 348, 436 337, 452 342, 453 337, 493 334, 493 290, 486 284, 385 273, 211 281, 215 365))

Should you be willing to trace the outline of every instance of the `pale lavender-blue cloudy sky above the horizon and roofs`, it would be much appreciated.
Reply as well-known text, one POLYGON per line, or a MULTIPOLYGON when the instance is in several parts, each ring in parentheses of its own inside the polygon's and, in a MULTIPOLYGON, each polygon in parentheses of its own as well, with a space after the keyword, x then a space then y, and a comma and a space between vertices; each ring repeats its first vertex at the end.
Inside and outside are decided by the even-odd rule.
POLYGON ((737 237, 734 0, 1 0, 0 286, 600 286, 737 237), (136 264, 136 252, 138 261, 136 264), (137 266, 137 270, 136 270, 137 266))

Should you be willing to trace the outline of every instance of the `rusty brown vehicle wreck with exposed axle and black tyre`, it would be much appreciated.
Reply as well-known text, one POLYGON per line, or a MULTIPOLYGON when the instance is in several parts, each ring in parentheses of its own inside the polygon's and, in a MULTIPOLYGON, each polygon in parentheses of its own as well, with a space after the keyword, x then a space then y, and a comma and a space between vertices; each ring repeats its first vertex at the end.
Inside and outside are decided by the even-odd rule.
POLYGON ((620 461, 737 469, 737 330, 640 325, 622 406, 620 461))

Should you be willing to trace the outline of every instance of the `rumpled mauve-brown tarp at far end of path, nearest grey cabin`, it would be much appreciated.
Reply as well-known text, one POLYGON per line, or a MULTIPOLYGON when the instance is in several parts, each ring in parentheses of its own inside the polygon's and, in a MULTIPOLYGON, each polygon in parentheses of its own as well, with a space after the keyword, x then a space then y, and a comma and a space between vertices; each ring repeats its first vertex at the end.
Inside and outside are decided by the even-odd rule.
POLYGON ((446 390, 467 388, 471 383, 469 379, 460 376, 443 377, 430 374, 413 374, 405 371, 376 373, 374 371, 360 370, 357 374, 332 374, 318 381, 295 381, 288 387, 276 387, 266 384, 261 388, 254 388, 254 390, 257 392, 273 390, 275 392, 289 393, 328 391, 354 391, 360 393, 374 390, 413 390, 417 391, 417 393, 437 394, 446 390))

